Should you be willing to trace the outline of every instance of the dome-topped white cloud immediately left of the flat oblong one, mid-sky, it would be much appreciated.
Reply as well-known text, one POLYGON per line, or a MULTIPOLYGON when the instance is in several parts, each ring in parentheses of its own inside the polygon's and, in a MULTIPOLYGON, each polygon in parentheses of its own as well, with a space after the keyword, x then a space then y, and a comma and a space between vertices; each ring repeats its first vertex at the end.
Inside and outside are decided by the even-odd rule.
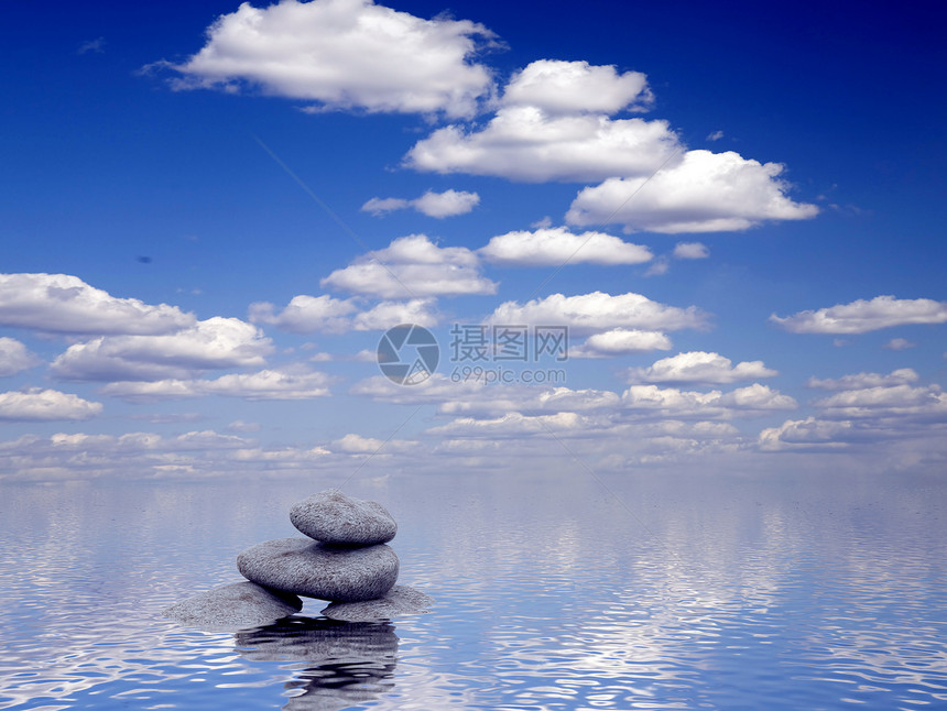
POLYGON ((424 234, 410 234, 357 258, 319 282, 380 298, 420 298, 496 294, 497 284, 480 275, 477 255, 464 247, 438 247, 424 234))

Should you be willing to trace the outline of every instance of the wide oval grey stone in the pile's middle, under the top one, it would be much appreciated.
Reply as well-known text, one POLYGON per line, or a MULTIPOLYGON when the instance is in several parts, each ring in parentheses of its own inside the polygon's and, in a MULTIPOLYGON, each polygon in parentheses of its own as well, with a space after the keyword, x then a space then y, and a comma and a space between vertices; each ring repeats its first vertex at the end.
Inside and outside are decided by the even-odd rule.
POLYGON ((312 538, 276 538, 237 556, 240 575, 266 588, 333 602, 381 598, 398 580, 388 546, 350 548, 312 538))

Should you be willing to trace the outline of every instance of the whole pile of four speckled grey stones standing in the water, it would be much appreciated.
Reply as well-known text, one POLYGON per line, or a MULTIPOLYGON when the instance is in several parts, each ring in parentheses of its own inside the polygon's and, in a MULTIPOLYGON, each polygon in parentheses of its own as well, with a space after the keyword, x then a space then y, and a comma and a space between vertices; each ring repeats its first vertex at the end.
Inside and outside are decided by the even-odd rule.
POLYGON ((385 544, 398 524, 381 504, 337 489, 313 494, 290 510, 304 537, 258 544, 237 556, 249 582, 224 586, 164 611, 203 626, 266 624, 297 612, 298 595, 327 600, 323 614, 361 622, 417 612, 433 600, 395 586, 398 556, 385 544))

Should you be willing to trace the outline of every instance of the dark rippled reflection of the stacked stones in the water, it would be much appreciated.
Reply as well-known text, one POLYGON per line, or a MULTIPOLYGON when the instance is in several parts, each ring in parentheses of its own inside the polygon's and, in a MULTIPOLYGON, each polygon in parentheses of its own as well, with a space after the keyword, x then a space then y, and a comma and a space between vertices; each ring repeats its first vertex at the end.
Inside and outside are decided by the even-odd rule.
POLYGON ((387 622, 337 622, 294 616, 236 634, 237 650, 253 661, 293 665, 287 689, 302 689, 286 711, 338 711, 394 689, 398 635, 387 622))

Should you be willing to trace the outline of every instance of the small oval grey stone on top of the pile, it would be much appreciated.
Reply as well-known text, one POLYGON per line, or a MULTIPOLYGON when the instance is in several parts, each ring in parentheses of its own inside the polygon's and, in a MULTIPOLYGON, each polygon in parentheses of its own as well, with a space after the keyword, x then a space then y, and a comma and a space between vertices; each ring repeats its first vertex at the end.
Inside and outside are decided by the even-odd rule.
POLYGON ((294 504, 290 521, 309 538, 345 546, 388 543, 398 533, 398 524, 384 506, 352 499, 338 489, 326 489, 294 504))

